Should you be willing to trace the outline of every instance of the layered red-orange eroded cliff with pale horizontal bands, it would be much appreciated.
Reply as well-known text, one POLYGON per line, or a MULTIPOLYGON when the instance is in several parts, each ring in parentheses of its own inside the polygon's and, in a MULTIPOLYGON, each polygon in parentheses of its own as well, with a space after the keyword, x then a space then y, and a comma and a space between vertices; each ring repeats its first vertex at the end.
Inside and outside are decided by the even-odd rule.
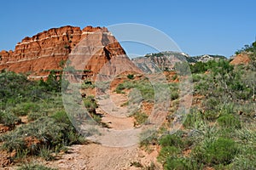
POLYGON ((50 70, 61 71, 61 60, 66 61, 70 57, 72 65, 83 67, 76 69, 96 74, 115 56, 123 59, 120 65, 134 66, 107 28, 86 26, 81 30, 79 27, 63 26, 25 37, 17 43, 15 51, 0 52, 0 71, 29 73, 30 78, 38 79, 47 77, 50 70))

